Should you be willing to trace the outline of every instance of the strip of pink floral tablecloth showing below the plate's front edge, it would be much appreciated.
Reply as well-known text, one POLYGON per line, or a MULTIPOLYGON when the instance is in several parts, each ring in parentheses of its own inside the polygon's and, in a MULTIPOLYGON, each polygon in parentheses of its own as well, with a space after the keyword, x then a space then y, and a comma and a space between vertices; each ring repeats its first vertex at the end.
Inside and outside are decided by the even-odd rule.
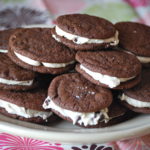
POLYGON ((105 144, 63 144, 0 134, 1 150, 150 150, 150 135, 105 144))

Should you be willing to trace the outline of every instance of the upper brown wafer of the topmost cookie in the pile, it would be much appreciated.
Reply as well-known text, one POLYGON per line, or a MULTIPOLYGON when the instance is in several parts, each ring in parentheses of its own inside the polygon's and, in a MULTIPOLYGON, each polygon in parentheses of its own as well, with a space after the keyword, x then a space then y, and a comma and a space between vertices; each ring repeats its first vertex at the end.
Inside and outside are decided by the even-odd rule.
POLYGON ((111 22, 87 14, 59 16, 56 25, 63 31, 91 39, 106 39, 113 37, 116 32, 111 22))

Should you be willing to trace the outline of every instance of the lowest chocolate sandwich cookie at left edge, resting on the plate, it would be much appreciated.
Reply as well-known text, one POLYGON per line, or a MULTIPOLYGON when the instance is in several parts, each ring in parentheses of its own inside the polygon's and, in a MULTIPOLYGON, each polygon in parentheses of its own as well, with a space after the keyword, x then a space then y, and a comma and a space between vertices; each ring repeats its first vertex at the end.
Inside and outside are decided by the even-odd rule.
POLYGON ((19 120, 45 123, 52 115, 51 111, 42 108, 46 90, 28 92, 0 91, 0 113, 19 120))

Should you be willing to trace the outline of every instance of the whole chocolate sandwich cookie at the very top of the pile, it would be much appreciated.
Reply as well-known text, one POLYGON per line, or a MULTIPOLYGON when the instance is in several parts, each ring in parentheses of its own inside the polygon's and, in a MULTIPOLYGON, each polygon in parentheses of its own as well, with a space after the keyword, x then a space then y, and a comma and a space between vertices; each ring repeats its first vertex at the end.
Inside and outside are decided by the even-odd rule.
POLYGON ((118 31, 111 22, 86 14, 59 16, 52 36, 76 50, 108 48, 119 43, 118 31))

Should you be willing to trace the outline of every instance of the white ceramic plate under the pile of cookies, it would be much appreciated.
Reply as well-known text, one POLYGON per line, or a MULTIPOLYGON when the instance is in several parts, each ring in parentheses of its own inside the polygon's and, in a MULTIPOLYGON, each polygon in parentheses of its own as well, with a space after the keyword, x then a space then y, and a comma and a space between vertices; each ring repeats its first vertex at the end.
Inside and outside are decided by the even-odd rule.
POLYGON ((0 115, 0 131, 51 142, 100 144, 150 133, 150 115, 140 115, 118 125, 101 129, 79 128, 66 121, 42 126, 0 115))

